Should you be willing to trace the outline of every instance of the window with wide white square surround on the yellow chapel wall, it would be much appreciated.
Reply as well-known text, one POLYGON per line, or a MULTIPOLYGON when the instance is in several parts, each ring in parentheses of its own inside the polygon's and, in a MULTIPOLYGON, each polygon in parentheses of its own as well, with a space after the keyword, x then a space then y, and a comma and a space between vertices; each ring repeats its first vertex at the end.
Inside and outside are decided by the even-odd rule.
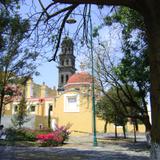
POLYGON ((64 112, 79 112, 79 95, 64 95, 64 112))

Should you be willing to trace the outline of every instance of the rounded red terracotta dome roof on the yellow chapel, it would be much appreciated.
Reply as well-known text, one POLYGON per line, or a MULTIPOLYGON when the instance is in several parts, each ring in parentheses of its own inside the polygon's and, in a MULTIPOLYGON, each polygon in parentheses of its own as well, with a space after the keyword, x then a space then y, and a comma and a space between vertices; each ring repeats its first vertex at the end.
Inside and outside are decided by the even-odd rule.
POLYGON ((77 72, 73 74, 67 82, 67 84, 75 83, 92 83, 92 76, 87 72, 77 72))

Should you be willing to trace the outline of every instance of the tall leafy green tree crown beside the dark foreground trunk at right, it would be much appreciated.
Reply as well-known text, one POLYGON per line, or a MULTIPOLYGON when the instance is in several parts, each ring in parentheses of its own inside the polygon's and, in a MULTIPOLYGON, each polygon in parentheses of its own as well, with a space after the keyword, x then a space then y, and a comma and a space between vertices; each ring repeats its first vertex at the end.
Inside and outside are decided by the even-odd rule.
MULTIPOLYGON (((99 30, 103 26, 110 26, 119 23, 122 30, 122 52, 124 56, 118 66, 115 67, 116 75, 122 82, 136 87, 141 98, 144 114, 143 121, 149 121, 147 114, 147 96, 150 89, 149 80, 149 62, 148 62, 148 44, 146 42, 145 26, 143 17, 135 10, 127 7, 117 7, 111 16, 104 18, 104 23, 97 27, 95 35, 99 35, 99 30)), ((135 131, 137 129, 137 120, 132 118, 135 131)), ((146 132, 150 131, 151 125, 146 124, 146 132)), ((135 136, 136 137, 136 136, 135 136)), ((136 138, 135 138, 136 141, 136 138)))

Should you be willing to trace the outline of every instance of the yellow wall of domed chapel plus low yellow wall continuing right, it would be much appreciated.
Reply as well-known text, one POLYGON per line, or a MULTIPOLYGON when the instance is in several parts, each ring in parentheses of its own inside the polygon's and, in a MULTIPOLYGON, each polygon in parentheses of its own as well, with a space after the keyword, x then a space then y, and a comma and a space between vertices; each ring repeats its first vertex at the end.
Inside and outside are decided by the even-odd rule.
MULTIPOLYGON (((56 98, 53 117, 59 126, 71 124, 72 133, 92 133, 92 105, 91 98, 80 94, 80 110, 79 112, 64 112, 64 96, 65 94, 79 94, 78 92, 66 92, 56 98)), ((96 118, 96 130, 98 133, 104 132, 105 122, 100 118, 96 118)), ((122 127, 117 127, 118 133, 123 133, 122 127)), ((133 125, 126 125, 127 132, 133 132, 133 125)), ((144 125, 139 125, 139 132, 144 132, 144 125)), ((115 126, 108 124, 107 132, 114 133, 115 126)))

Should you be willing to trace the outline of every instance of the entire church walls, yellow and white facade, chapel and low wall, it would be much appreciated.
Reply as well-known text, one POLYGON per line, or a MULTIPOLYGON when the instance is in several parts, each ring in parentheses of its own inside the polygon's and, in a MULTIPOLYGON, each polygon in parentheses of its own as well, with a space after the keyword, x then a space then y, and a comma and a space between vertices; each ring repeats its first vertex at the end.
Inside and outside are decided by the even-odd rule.
MULTIPOLYGON (((24 126, 30 128, 39 128, 40 125, 42 127, 48 127, 48 108, 49 105, 53 106, 53 110, 51 111, 51 119, 53 122, 57 123, 59 126, 71 124, 70 130, 72 133, 92 133, 92 98, 89 88, 81 87, 78 90, 71 89, 66 90, 65 92, 59 94, 55 97, 55 90, 54 96, 47 98, 45 97, 45 84, 40 87, 41 91, 40 97, 31 97, 34 85, 31 81, 27 83, 27 105, 28 109, 31 105, 35 105, 35 111, 29 112, 29 115, 32 117, 30 122, 27 122, 24 126), (29 85, 30 84, 30 85, 29 85), (66 112, 65 111, 65 97, 67 96, 78 96, 78 110, 73 112, 66 112), (42 100, 42 101, 40 101, 42 100), (34 117, 34 118, 33 118, 34 117)), ((2 123, 6 123, 7 126, 11 124, 11 116, 15 114, 14 106, 18 104, 18 101, 15 101, 11 104, 6 105, 5 107, 5 116, 2 117, 2 123), (10 118, 10 120, 9 120, 10 118)), ((53 124, 54 125, 54 124, 53 124)), ((104 125, 105 122, 100 118, 96 118, 96 130, 98 133, 104 132, 104 125)), ((119 133, 123 133, 122 127, 117 127, 119 133)), ((113 124, 108 124, 107 132, 114 133, 115 126, 113 124)), ((126 126, 126 131, 133 132, 133 125, 130 123, 126 126)), ((139 125, 139 132, 145 132, 144 125, 139 125)))

